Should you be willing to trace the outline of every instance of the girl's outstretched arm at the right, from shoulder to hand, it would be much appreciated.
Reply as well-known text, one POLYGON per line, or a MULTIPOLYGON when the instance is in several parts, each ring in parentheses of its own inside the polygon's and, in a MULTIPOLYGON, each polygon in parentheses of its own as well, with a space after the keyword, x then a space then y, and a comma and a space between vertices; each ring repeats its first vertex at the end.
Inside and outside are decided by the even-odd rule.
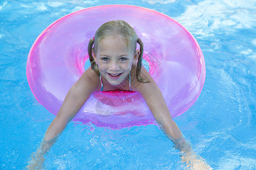
POLYGON ((150 74, 148 74, 143 67, 140 75, 142 78, 150 80, 150 83, 137 81, 133 83, 133 85, 135 85, 133 88, 141 93, 164 134, 166 134, 166 136, 174 142, 176 148, 180 150, 182 154, 181 160, 192 169, 211 169, 200 156, 192 151, 191 145, 185 140, 180 129, 172 120, 166 101, 154 79, 152 79, 150 74))

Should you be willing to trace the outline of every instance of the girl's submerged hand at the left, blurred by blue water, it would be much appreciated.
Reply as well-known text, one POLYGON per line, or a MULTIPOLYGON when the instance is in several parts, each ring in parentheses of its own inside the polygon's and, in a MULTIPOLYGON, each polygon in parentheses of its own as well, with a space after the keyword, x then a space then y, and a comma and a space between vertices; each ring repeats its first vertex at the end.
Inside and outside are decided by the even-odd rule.
POLYGON ((28 162, 26 166, 27 169, 42 169, 44 165, 44 152, 38 148, 36 152, 31 154, 31 160, 28 162))

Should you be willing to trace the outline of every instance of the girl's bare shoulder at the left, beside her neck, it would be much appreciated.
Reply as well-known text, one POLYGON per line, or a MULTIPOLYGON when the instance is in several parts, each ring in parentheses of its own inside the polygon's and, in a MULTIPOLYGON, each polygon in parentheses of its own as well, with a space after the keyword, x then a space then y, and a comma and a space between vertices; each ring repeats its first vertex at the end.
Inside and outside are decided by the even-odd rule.
POLYGON ((75 83, 76 88, 86 88, 88 91, 99 91, 101 88, 100 78, 89 67, 75 83))

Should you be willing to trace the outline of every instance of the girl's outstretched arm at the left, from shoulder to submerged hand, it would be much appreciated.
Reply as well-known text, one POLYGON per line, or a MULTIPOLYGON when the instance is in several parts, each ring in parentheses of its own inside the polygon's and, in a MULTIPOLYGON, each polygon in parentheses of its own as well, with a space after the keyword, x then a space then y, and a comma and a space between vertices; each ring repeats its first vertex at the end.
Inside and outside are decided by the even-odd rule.
POLYGON ((44 134, 40 147, 32 154, 32 159, 27 165, 28 169, 42 168, 44 154, 51 149, 68 122, 76 116, 90 95, 98 90, 98 84, 100 84, 98 76, 89 68, 71 87, 65 96, 57 116, 44 134))

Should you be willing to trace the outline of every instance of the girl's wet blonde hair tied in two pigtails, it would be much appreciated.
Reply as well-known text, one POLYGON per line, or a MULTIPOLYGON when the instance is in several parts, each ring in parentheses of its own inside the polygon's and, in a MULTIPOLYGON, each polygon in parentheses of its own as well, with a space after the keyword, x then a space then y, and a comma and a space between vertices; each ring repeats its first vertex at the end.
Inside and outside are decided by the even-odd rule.
POLYGON ((129 25, 123 20, 113 20, 113 21, 104 23, 103 25, 101 25, 100 28, 98 28, 98 30, 95 33, 95 36, 92 39, 90 39, 88 44, 88 55, 89 55, 90 66, 92 70, 98 76, 100 76, 100 71, 98 71, 98 66, 92 56, 92 52, 95 53, 97 51, 96 49, 100 41, 105 39, 105 37, 109 37, 109 36, 117 37, 118 35, 123 37, 123 39, 127 41, 129 48, 131 48, 131 50, 133 50, 134 53, 136 51, 137 42, 138 42, 141 53, 139 54, 139 57, 138 57, 136 78, 139 82, 143 82, 143 83, 150 82, 147 79, 141 78, 141 76, 139 75, 141 73, 141 67, 142 67, 143 42, 141 39, 138 38, 137 33, 134 31, 133 27, 131 27, 131 25, 129 25), (94 44, 94 47, 93 47, 93 44, 94 44))

